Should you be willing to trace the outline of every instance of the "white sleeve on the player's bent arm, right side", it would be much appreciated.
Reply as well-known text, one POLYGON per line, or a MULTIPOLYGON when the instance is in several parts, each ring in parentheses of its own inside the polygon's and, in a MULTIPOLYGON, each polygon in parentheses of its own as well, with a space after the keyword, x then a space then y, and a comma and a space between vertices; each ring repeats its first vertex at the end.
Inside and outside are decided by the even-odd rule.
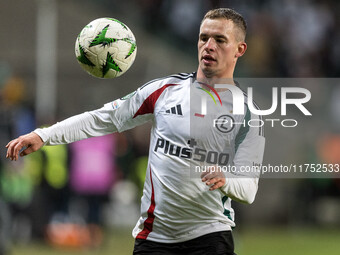
POLYGON ((247 204, 255 200, 263 160, 265 137, 261 118, 247 110, 235 139, 235 171, 226 174, 222 192, 231 199, 247 204), (249 123, 252 123, 251 126, 249 123))

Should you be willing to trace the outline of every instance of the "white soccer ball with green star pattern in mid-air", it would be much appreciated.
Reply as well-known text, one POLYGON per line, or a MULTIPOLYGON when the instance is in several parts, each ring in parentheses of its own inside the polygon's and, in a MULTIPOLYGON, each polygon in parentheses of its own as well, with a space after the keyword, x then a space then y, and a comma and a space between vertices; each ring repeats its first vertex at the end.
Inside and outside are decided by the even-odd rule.
POLYGON ((80 66, 98 78, 115 78, 133 64, 137 44, 132 31, 113 18, 99 18, 77 37, 75 53, 80 66))

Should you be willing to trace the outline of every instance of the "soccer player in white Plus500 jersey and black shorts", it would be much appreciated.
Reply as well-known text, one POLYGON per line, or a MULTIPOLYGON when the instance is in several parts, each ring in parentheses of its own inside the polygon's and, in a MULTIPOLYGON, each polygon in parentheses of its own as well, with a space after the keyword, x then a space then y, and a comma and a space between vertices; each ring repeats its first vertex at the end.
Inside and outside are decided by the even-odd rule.
POLYGON ((254 201, 259 176, 241 170, 262 163, 264 136, 261 127, 254 127, 260 125, 247 124, 260 117, 247 104, 244 115, 233 114, 231 91, 214 84, 227 79, 235 84, 235 65, 247 48, 245 36, 239 13, 209 11, 200 27, 197 72, 153 80, 101 109, 20 136, 7 144, 6 157, 17 160, 19 153, 25 156, 43 145, 122 132, 151 121, 134 254, 234 254, 231 201, 254 201), (202 112, 195 102, 212 92, 220 105, 202 112), (227 166, 234 170, 221 171, 227 166), (202 171, 197 173, 197 167, 202 171))

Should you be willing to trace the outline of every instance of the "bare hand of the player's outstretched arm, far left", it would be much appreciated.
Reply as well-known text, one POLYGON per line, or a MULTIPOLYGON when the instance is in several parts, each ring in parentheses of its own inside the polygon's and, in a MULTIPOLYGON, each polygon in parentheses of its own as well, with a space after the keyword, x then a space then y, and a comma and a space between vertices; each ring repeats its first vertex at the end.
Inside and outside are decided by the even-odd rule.
POLYGON ((29 133, 27 135, 19 136, 17 139, 10 141, 7 145, 7 154, 6 158, 11 160, 18 160, 19 152, 26 147, 20 153, 20 156, 26 156, 36 150, 39 150, 44 145, 44 142, 41 140, 40 136, 35 133, 29 133))

